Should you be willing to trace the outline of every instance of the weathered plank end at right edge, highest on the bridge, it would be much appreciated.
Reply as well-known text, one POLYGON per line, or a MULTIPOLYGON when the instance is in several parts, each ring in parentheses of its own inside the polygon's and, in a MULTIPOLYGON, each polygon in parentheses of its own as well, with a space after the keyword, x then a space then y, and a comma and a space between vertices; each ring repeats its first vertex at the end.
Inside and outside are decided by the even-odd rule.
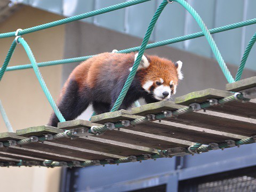
POLYGON ((239 92, 239 91, 242 91, 245 89, 250 89, 252 87, 256 87, 256 77, 250 77, 250 78, 242 79, 242 80, 234 82, 234 83, 226 84, 227 91, 239 92))

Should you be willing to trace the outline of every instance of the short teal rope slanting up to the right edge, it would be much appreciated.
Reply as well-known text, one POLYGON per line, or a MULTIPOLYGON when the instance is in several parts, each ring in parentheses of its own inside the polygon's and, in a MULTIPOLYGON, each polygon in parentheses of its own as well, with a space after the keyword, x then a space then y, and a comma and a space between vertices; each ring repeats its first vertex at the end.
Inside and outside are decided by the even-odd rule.
POLYGON ((255 41, 256 41, 256 33, 252 36, 250 42, 246 46, 243 58, 241 60, 241 63, 239 65, 239 68, 238 68, 237 73, 236 73, 235 81, 239 81, 241 79, 241 76, 242 76, 242 73, 243 73, 243 70, 244 70, 244 66, 245 66, 246 60, 247 60, 247 58, 249 56, 249 53, 250 53, 250 51, 252 49, 252 46, 254 45, 255 41))

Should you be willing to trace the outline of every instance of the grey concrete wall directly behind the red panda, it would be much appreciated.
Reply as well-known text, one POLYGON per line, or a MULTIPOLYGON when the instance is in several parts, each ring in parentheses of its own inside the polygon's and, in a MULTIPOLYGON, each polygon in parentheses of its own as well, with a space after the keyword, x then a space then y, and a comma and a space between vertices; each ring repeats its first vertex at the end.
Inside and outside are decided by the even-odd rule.
MULTIPOLYGON (((122 50, 139 46, 141 42, 142 39, 97 27, 89 23, 72 22, 66 26, 64 57, 81 57, 101 52, 111 52, 114 49, 122 50)), ((156 47, 146 50, 146 53, 156 54, 173 61, 181 60, 183 62, 182 71, 184 79, 178 86, 176 97, 207 88, 225 90, 227 80, 222 74, 218 62, 214 59, 201 57, 193 53, 174 49, 170 46, 156 47)), ((66 81, 71 70, 76 65, 77 63, 73 63, 63 67, 62 83, 66 81)), ((228 65, 228 68, 231 74, 235 76, 237 66, 228 65)), ((244 70, 242 78, 255 75, 256 71, 244 70)), ((89 119, 91 113, 92 108, 89 108, 79 118, 89 119)))

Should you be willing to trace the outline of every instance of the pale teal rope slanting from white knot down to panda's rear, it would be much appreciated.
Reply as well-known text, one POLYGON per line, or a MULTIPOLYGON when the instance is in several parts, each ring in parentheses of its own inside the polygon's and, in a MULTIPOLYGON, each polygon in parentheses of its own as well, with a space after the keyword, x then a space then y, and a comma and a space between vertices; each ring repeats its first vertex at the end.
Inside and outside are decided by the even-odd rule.
POLYGON ((27 42, 23 39, 23 38, 18 38, 18 42, 24 47, 27 55, 28 55, 28 58, 30 60, 30 62, 32 63, 32 66, 33 66, 33 69, 35 71, 35 74, 36 74, 36 77, 44 91, 44 94, 46 95, 46 98, 48 99, 54 113, 56 114, 56 116, 58 117, 59 121, 60 122, 65 122, 65 118, 62 116, 62 114, 60 113, 60 110, 59 108, 57 107, 56 103, 54 102, 53 98, 52 98, 52 95, 51 93, 49 92, 45 82, 44 82, 44 79, 39 71, 39 68, 36 64, 36 60, 35 60, 35 57, 30 49, 30 47, 28 46, 27 42))

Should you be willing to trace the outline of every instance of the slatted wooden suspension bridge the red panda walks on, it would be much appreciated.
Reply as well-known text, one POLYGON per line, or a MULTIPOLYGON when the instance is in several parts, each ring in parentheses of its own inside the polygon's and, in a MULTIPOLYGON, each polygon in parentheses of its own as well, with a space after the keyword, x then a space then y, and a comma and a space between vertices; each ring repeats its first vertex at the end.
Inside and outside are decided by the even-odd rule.
POLYGON ((252 143, 253 135, 256 135, 256 101, 251 98, 255 98, 255 93, 256 77, 251 77, 227 84, 226 91, 197 91, 176 98, 175 103, 160 101, 131 111, 93 116, 91 121, 77 119, 59 123, 58 127, 37 126, 16 133, 1 133, 0 166, 116 164, 201 153, 189 149, 196 143, 203 143, 213 150, 221 148, 219 143, 234 147, 236 141, 248 138, 253 140, 249 142, 252 143), (218 102, 235 92, 242 93, 244 99, 224 105, 218 102), (205 102, 210 102, 210 107, 196 105, 205 102), (168 114, 186 106, 193 110, 180 115, 168 114), (156 114, 165 114, 165 117, 156 120, 156 114), (143 117, 148 121, 135 126, 129 124, 143 117), (100 134, 91 130, 92 126, 120 122, 122 127, 100 134))

